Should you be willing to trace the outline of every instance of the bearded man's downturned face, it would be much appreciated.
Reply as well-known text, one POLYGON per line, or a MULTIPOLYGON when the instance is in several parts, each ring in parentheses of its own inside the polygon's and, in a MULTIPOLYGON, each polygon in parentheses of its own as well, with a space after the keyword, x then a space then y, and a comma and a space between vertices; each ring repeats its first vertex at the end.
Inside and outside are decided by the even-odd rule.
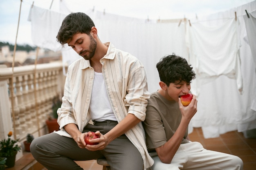
POLYGON ((81 55, 85 60, 90 60, 94 56, 97 42, 94 37, 85 33, 76 33, 67 41, 68 46, 71 46, 76 53, 81 55))

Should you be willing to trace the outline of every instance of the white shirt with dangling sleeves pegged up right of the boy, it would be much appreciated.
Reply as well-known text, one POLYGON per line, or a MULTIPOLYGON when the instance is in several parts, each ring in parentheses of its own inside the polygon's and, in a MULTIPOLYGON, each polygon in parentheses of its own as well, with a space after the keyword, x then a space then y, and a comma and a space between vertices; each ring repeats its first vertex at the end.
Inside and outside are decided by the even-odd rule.
POLYGON ((238 90, 241 92, 243 81, 240 71, 239 22, 229 19, 211 27, 194 23, 187 28, 189 61, 197 75, 195 93, 199 94, 201 84, 213 81, 220 75, 236 79, 238 90))

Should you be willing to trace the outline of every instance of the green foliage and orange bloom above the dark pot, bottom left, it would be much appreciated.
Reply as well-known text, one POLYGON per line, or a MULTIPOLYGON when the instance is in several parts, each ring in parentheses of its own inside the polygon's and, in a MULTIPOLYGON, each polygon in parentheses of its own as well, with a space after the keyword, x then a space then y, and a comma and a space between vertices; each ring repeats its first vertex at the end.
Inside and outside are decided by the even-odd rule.
POLYGON ((10 157, 17 153, 21 148, 17 142, 19 139, 11 139, 12 131, 8 133, 8 138, 0 141, 0 157, 10 157))

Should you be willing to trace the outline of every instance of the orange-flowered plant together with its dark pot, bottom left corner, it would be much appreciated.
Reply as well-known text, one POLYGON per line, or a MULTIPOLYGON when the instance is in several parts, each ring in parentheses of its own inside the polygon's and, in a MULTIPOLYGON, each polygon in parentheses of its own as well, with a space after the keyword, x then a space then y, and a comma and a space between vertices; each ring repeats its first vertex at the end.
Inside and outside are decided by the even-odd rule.
POLYGON ((8 168, 13 167, 15 164, 16 154, 21 149, 17 142, 19 139, 11 139, 12 131, 8 133, 7 139, 0 141, 0 157, 7 158, 5 164, 8 168))

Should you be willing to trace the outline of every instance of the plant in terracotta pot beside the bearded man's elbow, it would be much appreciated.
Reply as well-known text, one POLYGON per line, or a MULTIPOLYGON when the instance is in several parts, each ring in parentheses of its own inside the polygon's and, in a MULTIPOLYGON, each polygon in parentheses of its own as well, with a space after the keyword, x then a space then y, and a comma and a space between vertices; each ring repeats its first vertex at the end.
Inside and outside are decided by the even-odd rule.
POLYGON ((57 110, 61 107, 61 100, 59 99, 58 95, 55 96, 52 100, 52 113, 50 113, 48 119, 46 120, 46 124, 49 130, 49 133, 57 131, 60 129, 60 126, 57 122, 58 114, 57 110))

